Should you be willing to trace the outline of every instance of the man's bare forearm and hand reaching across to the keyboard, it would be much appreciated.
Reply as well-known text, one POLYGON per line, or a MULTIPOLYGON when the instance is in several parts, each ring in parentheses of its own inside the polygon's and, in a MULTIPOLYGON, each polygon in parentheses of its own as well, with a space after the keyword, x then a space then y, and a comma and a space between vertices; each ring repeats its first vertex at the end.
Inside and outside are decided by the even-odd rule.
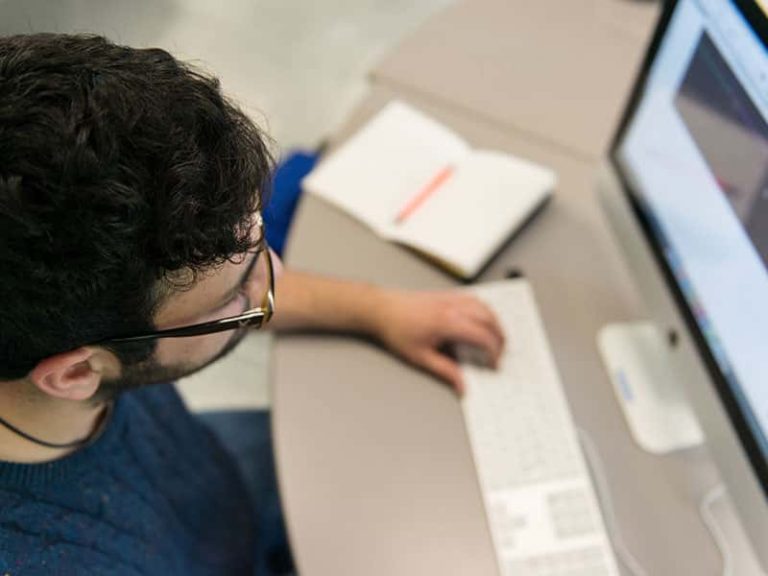
POLYGON ((272 325, 277 330, 319 329, 372 336, 408 362, 464 391, 458 364, 441 349, 465 343, 496 365, 504 336, 490 309, 455 292, 391 290, 286 270, 277 280, 272 325))

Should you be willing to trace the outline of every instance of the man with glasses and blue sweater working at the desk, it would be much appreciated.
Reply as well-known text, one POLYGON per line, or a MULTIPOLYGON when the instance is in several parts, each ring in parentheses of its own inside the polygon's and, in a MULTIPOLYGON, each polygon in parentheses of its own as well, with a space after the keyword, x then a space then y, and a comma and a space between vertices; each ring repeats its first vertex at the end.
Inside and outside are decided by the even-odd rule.
POLYGON ((471 297, 280 275, 270 168, 161 50, 0 38, 0 574, 265 571, 237 464, 168 384, 248 329, 370 335, 458 391, 443 344, 498 358, 471 297))

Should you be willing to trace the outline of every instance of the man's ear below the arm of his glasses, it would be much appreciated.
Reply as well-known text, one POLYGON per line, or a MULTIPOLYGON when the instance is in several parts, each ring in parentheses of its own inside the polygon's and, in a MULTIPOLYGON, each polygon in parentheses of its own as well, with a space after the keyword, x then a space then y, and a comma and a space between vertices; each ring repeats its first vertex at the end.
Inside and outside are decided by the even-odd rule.
POLYGON ((105 372, 114 371, 116 362, 106 350, 84 346, 40 361, 28 378, 54 398, 87 400, 99 389, 105 372))

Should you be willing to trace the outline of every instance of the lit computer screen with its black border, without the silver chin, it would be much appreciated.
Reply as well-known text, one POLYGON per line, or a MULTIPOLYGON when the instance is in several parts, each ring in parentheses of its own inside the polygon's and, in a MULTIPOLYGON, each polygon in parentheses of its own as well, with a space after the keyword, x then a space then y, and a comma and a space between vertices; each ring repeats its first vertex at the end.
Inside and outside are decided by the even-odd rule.
POLYGON ((768 494, 768 52, 733 0, 680 0, 636 98, 614 161, 768 494))

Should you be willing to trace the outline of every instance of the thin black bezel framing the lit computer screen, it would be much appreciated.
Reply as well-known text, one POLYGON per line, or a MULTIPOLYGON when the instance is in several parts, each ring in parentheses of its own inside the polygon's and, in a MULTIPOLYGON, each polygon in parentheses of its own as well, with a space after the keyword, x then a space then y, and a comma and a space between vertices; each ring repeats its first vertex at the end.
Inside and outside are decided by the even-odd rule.
MULTIPOLYGON (((747 22, 750 23, 752 29, 756 35, 768 49, 768 19, 762 8, 757 4, 757 0, 730 0, 732 4, 741 12, 747 22)), ((681 316, 684 319, 688 332, 692 335, 692 339, 695 343, 696 349, 699 352, 699 356, 702 363, 705 365, 708 374, 710 375, 710 381, 714 384, 715 392, 721 403, 725 407, 725 412, 728 414, 728 418, 733 426, 737 437, 739 438, 741 445, 747 455, 750 465, 752 466, 755 475, 757 476, 758 483, 762 487, 764 496, 768 499, 768 461, 763 456, 762 450, 755 438, 750 426, 748 425, 746 418, 741 412, 738 401, 728 384, 728 381, 720 369, 714 354, 710 350, 706 338, 703 332, 699 328, 696 322, 694 312, 688 304, 682 289, 677 283, 674 273, 664 257, 663 246, 661 239, 653 232, 653 225, 651 224, 650 217, 646 214, 645 209, 638 195, 632 188, 629 178, 624 172, 621 162, 618 159, 618 149, 621 144, 629 124, 640 104, 640 100, 645 91, 645 87, 648 81, 653 62, 656 59, 661 43, 666 35, 666 31, 669 28, 669 24, 672 20, 672 15, 675 12, 679 4, 678 0, 669 0, 665 2, 664 9, 659 19, 659 23, 656 26, 656 31, 651 39, 651 43, 646 52, 645 60, 640 68, 640 72, 635 80, 634 87, 632 88, 629 100, 625 106, 624 113, 619 127, 611 141, 610 151, 608 154, 609 162, 613 167, 619 182, 621 183, 621 189, 629 204, 632 208, 632 212, 640 223, 640 228, 643 231, 643 235, 651 247, 654 260, 656 261, 659 269, 662 272, 664 281, 669 288, 670 293, 673 295, 674 302, 681 312, 681 316)))

